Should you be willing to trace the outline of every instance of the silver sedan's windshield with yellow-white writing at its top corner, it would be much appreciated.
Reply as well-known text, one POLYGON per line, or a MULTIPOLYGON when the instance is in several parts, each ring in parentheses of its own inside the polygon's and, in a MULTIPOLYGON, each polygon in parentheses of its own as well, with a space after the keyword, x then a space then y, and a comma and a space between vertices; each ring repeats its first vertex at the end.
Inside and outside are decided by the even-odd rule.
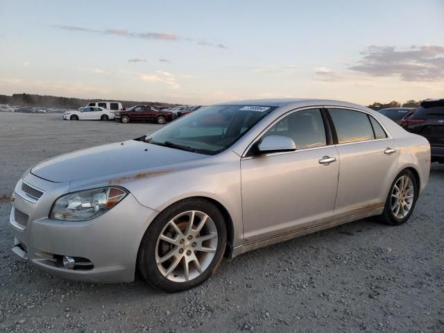
POLYGON ((173 121, 144 142, 214 155, 224 151, 276 107, 212 105, 173 121))

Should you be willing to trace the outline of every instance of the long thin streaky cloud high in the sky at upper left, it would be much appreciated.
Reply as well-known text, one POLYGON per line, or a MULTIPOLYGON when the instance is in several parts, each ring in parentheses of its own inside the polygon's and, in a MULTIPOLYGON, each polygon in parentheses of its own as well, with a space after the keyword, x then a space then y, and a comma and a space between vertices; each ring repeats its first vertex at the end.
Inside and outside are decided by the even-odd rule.
MULTIPOLYGON (((81 31, 84 33, 97 33, 101 35, 115 35, 115 36, 121 36, 121 37, 129 37, 129 38, 141 38, 144 40, 167 40, 171 42, 176 42, 178 40, 187 40, 189 42, 193 41, 193 38, 190 37, 183 37, 179 36, 176 33, 133 33, 128 30, 124 29, 105 29, 105 30, 94 30, 89 28, 83 28, 80 26, 63 26, 60 24, 52 26, 53 28, 57 28, 60 30, 66 30, 66 31, 81 31)), ((206 46, 215 46, 219 49, 227 49, 227 46, 223 44, 214 44, 212 42, 206 42, 204 40, 198 40, 197 44, 199 45, 206 45, 206 46)))

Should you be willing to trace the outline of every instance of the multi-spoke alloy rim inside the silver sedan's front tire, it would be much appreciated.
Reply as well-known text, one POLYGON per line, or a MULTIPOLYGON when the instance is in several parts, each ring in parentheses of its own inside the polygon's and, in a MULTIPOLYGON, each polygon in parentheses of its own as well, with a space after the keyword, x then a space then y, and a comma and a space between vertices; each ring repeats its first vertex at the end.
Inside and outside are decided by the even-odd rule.
POLYGON ((157 238, 157 268, 170 281, 193 280, 210 266, 217 244, 217 229, 210 216, 196 210, 183 212, 171 219, 157 238))

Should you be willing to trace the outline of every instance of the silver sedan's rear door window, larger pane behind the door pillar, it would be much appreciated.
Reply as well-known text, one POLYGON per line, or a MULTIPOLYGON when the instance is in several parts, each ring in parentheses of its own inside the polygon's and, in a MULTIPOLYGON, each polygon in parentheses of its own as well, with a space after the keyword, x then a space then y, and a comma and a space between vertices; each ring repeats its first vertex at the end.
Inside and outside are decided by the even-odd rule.
POLYGON ((366 113, 345 109, 328 109, 328 111, 332 116, 339 144, 375 139, 366 113))

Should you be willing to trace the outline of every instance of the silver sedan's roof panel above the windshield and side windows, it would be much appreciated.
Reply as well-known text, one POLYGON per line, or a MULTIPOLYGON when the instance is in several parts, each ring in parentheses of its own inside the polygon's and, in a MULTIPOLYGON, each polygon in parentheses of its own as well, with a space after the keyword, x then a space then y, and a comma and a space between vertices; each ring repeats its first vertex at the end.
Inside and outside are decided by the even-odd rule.
MULTIPOLYGON (((219 103, 219 105, 262 105, 262 106, 292 106, 295 108, 314 105, 344 106, 349 108, 365 108, 363 105, 345 101, 334 101, 330 99, 250 99, 244 101, 231 101, 219 103)), ((367 108, 366 108, 367 109, 367 108)))

